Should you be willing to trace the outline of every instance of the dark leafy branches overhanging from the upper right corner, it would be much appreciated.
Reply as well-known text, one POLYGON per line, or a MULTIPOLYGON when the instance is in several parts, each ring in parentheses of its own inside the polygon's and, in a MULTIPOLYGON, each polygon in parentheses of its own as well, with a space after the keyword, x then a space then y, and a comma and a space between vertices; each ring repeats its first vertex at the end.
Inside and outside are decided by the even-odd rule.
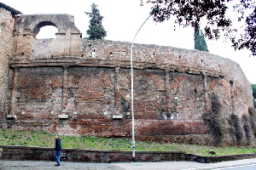
POLYGON ((205 25, 204 34, 208 39, 226 37, 235 49, 248 48, 256 55, 256 3, 251 0, 141 0, 152 3, 155 22, 163 22, 176 18, 175 25, 195 26, 205 25), (227 11, 233 11, 230 17, 227 11), (242 22, 233 25, 232 20, 242 22), (206 22, 207 21, 207 22, 206 22), (244 30, 241 34, 238 30, 244 30), (241 36, 240 36, 241 35, 241 36))

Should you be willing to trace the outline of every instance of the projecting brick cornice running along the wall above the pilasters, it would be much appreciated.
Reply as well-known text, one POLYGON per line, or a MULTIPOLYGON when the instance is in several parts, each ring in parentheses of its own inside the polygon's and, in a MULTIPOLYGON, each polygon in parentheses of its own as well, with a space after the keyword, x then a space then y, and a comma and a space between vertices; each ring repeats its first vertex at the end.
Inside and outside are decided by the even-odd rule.
MULTIPOLYGON (((26 66, 97 66, 97 67, 123 67, 130 68, 129 59, 80 59, 77 57, 62 56, 59 59, 10 59, 10 67, 26 66)), ((175 63, 154 63, 133 61, 135 69, 163 69, 166 71, 188 72, 189 74, 201 74, 203 72, 207 77, 224 77, 224 72, 218 70, 209 70, 207 68, 198 68, 189 65, 177 65, 175 63)))

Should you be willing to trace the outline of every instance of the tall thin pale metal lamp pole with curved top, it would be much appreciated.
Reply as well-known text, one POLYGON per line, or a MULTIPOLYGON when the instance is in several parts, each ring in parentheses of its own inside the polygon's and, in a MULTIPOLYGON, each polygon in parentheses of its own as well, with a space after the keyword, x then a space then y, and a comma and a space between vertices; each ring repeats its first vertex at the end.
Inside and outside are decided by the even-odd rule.
MULTIPOLYGON (((150 18, 153 13, 150 13, 148 18, 143 22, 143 25, 150 18)), ((135 161, 135 130, 134 130, 134 111, 133 111, 133 65, 132 65, 132 49, 135 38, 137 37, 138 32, 141 30, 143 25, 138 29, 133 41, 131 42, 131 148, 132 148, 132 158, 131 161, 135 161)))

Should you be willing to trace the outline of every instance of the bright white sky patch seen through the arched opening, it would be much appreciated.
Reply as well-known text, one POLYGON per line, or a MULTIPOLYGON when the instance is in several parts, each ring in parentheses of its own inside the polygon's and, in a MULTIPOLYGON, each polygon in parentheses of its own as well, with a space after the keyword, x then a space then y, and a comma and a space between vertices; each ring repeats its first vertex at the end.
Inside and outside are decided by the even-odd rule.
POLYGON ((56 32, 58 29, 55 26, 43 26, 38 32, 37 39, 56 38, 56 32))

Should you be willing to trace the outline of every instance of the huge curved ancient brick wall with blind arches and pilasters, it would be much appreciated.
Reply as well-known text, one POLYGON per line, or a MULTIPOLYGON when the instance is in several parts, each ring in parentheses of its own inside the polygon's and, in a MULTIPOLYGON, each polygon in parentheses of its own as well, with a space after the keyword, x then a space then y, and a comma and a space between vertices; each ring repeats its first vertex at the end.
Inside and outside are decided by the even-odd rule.
MULTIPOLYGON (((12 25, 1 42, 14 43, 5 40, 9 53, 1 48, 0 55, 0 69, 9 73, 0 80, 6 87, 0 89, 3 127, 131 136, 131 42, 81 39, 68 14, 9 17, 12 25), (36 39, 42 26, 55 26, 56 38, 36 39)), ((238 144, 232 132, 247 126, 242 120, 253 96, 236 62, 196 50, 134 44, 133 65, 137 139, 212 144, 212 134, 221 133, 224 144, 238 144), (207 124, 211 111, 218 133, 207 124)), ((239 144, 253 143, 247 133, 252 130, 242 130, 239 144)))

